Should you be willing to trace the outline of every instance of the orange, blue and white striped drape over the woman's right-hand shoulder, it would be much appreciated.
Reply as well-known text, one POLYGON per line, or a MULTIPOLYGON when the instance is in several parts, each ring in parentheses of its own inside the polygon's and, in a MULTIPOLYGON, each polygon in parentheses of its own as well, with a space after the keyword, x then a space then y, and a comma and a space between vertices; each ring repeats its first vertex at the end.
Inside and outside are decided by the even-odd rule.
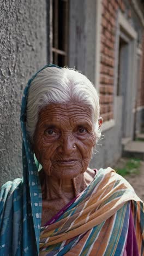
POLYGON ((59 218, 52 219, 54 223, 41 228, 40 255, 123 255, 129 200, 134 200, 136 238, 142 255, 143 203, 110 167, 100 169, 75 202, 59 218))

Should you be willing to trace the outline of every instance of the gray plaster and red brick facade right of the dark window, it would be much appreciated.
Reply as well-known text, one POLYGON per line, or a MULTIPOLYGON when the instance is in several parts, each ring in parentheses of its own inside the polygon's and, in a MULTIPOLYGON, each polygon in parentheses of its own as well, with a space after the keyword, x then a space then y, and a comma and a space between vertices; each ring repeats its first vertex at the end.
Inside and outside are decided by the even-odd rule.
POLYGON ((107 167, 121 157, 122 143, 133 140, 142 131, 143 2, 62 2, 67 2, 69 16, 65 65, 87 75, 100 96, 103 136, 91 167, 107 167))

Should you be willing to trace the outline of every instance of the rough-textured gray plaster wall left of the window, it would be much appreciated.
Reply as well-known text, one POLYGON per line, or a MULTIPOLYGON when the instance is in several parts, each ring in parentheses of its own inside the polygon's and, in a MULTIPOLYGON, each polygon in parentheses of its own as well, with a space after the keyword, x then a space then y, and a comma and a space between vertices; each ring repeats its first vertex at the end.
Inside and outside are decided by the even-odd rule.
POLYGON ((0 2, 0 185, 21 177, 20 106, 33 72, 46 63, 43 0, 0 2))

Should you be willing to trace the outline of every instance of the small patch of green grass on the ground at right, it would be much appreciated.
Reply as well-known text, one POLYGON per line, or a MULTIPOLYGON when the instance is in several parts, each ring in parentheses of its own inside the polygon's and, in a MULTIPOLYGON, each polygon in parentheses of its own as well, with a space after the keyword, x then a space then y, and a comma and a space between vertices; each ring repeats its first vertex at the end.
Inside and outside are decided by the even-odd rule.
POLYGON ((128 174, 139 174, 140 172, 141 161, 137 158, 130 158, 122 168, 116 168, 116 172, 121 176, 128 174))

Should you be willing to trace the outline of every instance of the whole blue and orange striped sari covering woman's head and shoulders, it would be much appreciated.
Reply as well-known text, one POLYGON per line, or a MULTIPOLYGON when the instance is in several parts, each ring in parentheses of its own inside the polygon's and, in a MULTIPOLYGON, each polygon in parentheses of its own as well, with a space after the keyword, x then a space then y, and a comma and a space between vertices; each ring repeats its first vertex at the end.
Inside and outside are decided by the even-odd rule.
MULTIPOLYGON (((42 69, 46 67, 57 66, 42 69)), ((0 255, 123 255, 130 208, 143 255, 143 203, 111 168, 100 169, 76 199, 41 227, 39 163, 25 126, 28 89, 38 72, 28 81, 22 98, 23 178, 5 183, 0 190, 0 255)))

